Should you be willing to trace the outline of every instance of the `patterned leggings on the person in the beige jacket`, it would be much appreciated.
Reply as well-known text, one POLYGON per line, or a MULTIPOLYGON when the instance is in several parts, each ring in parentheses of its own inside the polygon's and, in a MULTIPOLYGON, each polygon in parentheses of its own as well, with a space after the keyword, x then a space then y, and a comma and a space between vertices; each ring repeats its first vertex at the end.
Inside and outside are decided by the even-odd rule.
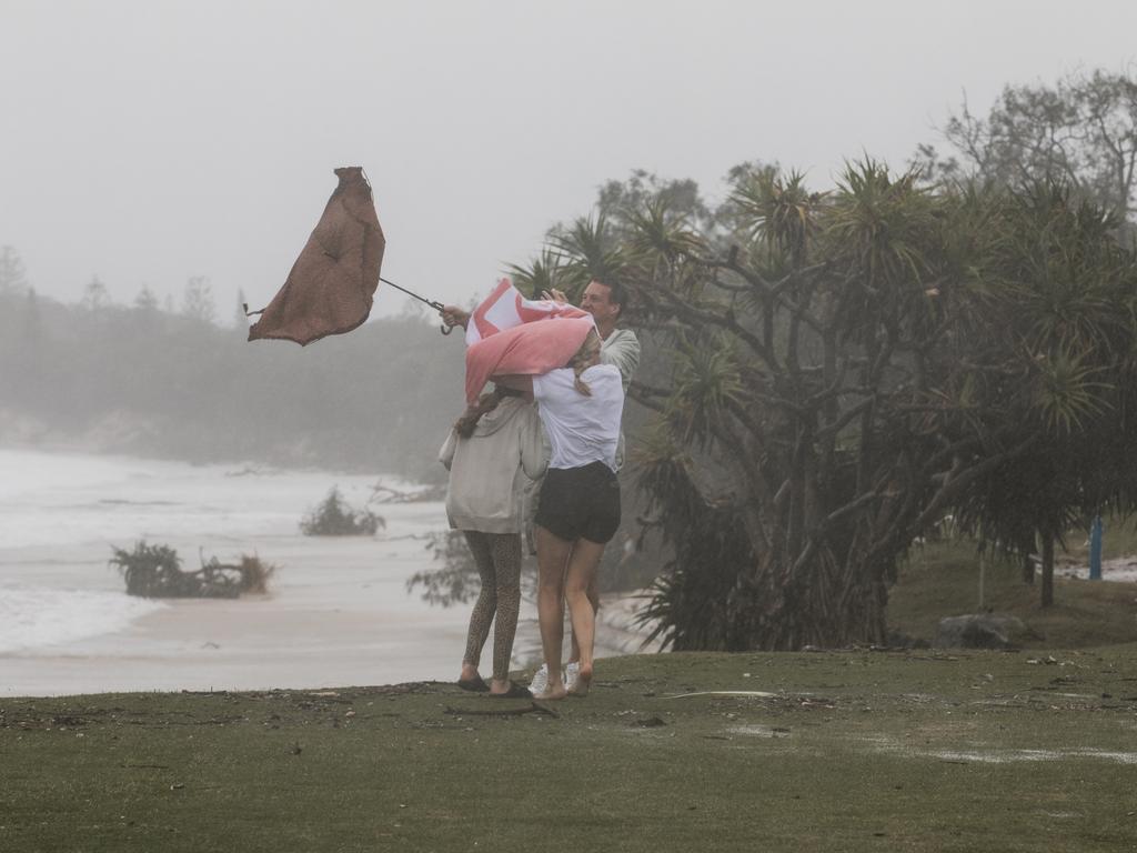
POLYGON ((466 635, 466 656, 463 663, 478 665, 482 646, 493 628, 493 678, 504 681, 509 677, 513 638, 517 633, 517 612, 521 610, 521 537, 516 533, 482 533, 464 530, 466 544, 478 564, 482 580, 481 591, 470 614, 466 635))

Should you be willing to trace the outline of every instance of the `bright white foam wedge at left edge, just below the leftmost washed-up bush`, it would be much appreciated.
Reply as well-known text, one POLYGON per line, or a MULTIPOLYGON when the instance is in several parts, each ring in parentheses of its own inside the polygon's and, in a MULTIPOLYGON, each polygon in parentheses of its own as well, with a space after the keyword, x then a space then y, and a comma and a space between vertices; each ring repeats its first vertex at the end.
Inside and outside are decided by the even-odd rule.
POLYGON ((119 631, 165 606, 125 593, 0 587, 0 653, 119 631))

